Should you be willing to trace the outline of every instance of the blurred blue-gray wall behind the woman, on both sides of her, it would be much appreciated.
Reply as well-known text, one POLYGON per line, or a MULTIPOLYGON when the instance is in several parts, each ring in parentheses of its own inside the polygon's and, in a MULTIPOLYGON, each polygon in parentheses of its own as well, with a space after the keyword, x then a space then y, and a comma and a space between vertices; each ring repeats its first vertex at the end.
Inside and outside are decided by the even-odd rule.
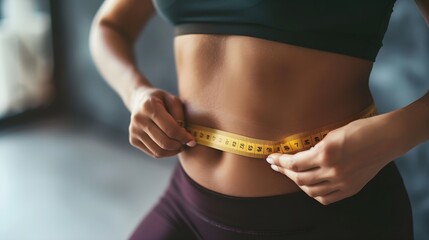
MULTIPOLYGON (((102 1, 58 1, 61 94, 73 116, 99 122, 127 134, 129 114, 97 73, 88 50, 91 20, 102 1)), ((152 19, 137 46, 139 65, 161 88, 176 92, 172 28, 152 19)), ((374 71, 371 88, 380 112, 403 107, 429 89, 429 29, 414 1, 399 0, 374 71)), ((428 123, 429 124, 429 123, 428 123)), ((398 161, 412 200, 416 239, 429 236, 429 144, 398 161)))

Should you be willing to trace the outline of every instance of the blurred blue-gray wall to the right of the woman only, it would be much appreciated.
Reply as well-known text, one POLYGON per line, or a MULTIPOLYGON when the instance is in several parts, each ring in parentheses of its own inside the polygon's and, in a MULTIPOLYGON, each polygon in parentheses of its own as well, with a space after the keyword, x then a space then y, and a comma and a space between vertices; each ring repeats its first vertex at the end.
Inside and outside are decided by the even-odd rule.
MULTIPOLYGON (((396 3, 371 78, 380 112, 403 107, 429 90, 429 28, 414 1, 396 3)), ((412 201, 416 239, 427 239, 429 142, 414 148, 397 163, 412 201)))

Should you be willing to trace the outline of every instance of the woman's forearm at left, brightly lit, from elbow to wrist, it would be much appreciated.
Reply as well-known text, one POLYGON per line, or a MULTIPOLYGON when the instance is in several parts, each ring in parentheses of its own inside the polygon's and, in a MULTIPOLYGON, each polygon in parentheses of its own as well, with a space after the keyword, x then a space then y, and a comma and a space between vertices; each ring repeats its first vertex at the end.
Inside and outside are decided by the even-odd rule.
POLYGON ((90 49, 94 62, 128 109, 131 109, 134 90, 151 86, 137 68, 133 45, 133 41, 114 26, 98 21, 93 23, 90 49))

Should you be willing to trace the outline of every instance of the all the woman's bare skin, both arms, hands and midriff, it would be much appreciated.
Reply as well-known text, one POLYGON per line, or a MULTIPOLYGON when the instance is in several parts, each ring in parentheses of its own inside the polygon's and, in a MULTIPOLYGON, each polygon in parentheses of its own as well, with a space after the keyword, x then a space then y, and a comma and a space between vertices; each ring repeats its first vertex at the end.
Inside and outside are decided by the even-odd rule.
MULTIPOLYGON (((427 3, 419 3, 424 16, 427 3)), ((308 151, 272 154, 270 164, 196 145, 177 121, 267 140, 341 122, 373 101, 373 64, 247 36, 181 35, 174 39, 174 96, 154 88, 135 63, 133 45, 153 12, 150 0, 105 1, 93 22, 91 52, 131 112, 131 144, 154 158, 179 154, 206 188, 242 197, 302 190, 329 204, 356 194, 383 166, 429 139, 428 93, 335 129, 308 151)))

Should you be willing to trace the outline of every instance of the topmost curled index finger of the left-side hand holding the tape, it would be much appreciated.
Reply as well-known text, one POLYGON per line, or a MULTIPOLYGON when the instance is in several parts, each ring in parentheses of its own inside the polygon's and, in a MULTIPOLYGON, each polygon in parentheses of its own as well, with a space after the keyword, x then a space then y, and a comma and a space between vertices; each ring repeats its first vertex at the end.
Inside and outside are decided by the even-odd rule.
POLYGON ((177 123, 177 121, 170 113, 167 112, 167 109, 161 103, 157 104, 160 104, 161 106, 155 108, 156 113, 153 115, 153 122, 168 137, 176 139, 182 144, 186 144, 191 147, 195 146, 194 137, 177 123))

